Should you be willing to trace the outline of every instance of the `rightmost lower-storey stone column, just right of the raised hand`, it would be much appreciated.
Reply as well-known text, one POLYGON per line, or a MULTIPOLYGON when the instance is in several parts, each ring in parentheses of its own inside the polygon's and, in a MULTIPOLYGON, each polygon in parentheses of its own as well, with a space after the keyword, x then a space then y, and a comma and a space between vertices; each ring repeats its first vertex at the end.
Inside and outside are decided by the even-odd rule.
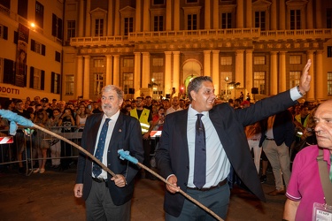
MULTIPOLYGON (((317 50, 316 52, 316 99, 320 101, 325 101, 328 99, 328 86, 327 84, 321 84, 321 82, 326 82, 328 79, 327 73, 323 72, 323 51, 317 50)), ((310 68, 312 69, 312 67, 310 68)), ((310 90, 312 90, 311 88, 310 90)))

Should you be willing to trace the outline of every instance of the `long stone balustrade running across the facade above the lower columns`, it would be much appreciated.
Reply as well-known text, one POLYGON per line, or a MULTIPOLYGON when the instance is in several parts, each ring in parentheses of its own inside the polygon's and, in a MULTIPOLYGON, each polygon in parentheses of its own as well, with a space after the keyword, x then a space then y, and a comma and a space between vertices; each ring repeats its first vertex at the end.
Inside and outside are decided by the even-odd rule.
POLYGON ((71 46, 116 46, 132 45, 137 42, 186 42, 197 40, 285 41, 288 39, 328 39, 332 29, 299 29, 261 31, 259 28, 231 28, 210 30, 180 30, 164 32, 134 32, 128 36, 101 36, 71 38, 71 46))

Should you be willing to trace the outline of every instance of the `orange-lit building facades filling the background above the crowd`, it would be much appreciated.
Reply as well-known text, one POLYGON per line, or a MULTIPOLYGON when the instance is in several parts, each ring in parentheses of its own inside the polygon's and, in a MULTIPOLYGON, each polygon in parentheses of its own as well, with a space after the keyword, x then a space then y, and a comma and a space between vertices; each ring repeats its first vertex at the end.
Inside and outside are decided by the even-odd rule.
POLYGON ((332 96, 332 1, 0 0, 0 7, 0 35, 4 27, 9 33, 9 40, 0 38, 2 88, 16 87, 4 69, 15 69, 19 24, 41 23, 43 15, 42 27, 29 27, 20 96, 97 100, 104 85, 114 84, 126 98, 157 98, 173 88, 185 93, 189 80, 207 75, 220 99, 241 92, 260 99, 297 85, 309 58, 313 80, 305 99, 332 96), (44 55, 35 54, 35 42, 44 55))

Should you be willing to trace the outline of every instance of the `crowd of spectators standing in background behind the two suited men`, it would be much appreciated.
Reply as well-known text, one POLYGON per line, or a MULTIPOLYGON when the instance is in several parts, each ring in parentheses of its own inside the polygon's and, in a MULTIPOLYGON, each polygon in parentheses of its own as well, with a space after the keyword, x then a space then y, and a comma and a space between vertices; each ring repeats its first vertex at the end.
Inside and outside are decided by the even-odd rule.
MULTIPOLYGON (((151 125, 153 125, 151 126, 151 130, 162 131, 166 115, 169 115, 174 111, 188 109, 190 104, 189 99, 182 99, 180 97, 182 97, 181 94, 176 96, 173 93, 169 99, 152 99, 150 95, 145 97, 137 97, 136 99, 127 99, 122 103, 120 111, 126 115, 133 115, 130 113, 133 113, 133 110, 137 109, 137 106, 139 109, 143 108, 150 110, 151 118, 149 121, 151 122, 149 122, 149 124, 151 123, 151 125)), ((236 110, 249 107, 253 104, 251 102, 252 100, 250 99, 250 96, 247 96, 245 100, 243 100, 243 97, 239 97, 234 101, 233 99, 229 99, 228 104, 236 110)), ((218 101, 214 104, 218 103, 222 102, 218 101)), ((82 132, 88 116, 103 111, 100 104, 100 100, 66 103, 65 101, 57 101, 56 99, 53 99, 49 102, 47 97, 43 97, 41 99, 40 96, 35 96, 34 100, 30 100, 30 98, 27 97, 25 102, 19 99, 14 101, 10 100, 6 103, 4 108, 12 110, 20 116, 31 119, 35 124, 46 127, 52 132, 70 133, 74 131, 82 132)), ((317 105, 317 102, 297 103, 287 110, 292 115, 291 118, 294 126, 294 134, 290 133, 290 136, 294 139, 292 140, 291 145, 288 146, 288 148, 291 148, 291 161, 300 149, 305 146, 309 146, 310 144, 316 144, 313 133, 314 122, 311 117, 313 116, 312 112, 316 109, 317 105)), ((8 122, 6 122, 5 119, 2 119, 1 124, 0 129, 3 131, 8 129, 8 122)), ((264 183, 266 181, 268 158, 266 157, 265 152, 262 151, 262 143, 259 142, 262 137, 265 137, 264 134, 262 135, 262 124, 264 124, 264 122, 257 122, 254 125, 245 127, 245 133, 253 154, 256 169, 260 175, 261 182, 264 183), (260 171, 261 165, 263 167, 262 171, 260 171)), ((39 163, 37 164, 39 167, 35 169, 35 172, 40 173, 45 171, 46 157, 48 154, 51 157, 51 167, 54 169, 58 169, 60 167, 61 156, 71 156, 73 154, 70 145, 66 144, 66 142, 50 138, 49 142, 45 141, 47 139, 43 139, 44 137, 45 134, 36 132, 35 136, 33 136, 36 143, 34 156, 39 159, 43 159, 39 160, 39 163), (50 151, 47 151, 48 149, 50 149, 50 151), (63 151, 62 154, 61 150, 63 151)), ((25 168, 23 168, 23 164, 21 163, 22 153, 26 149, 24 142, 24 130, 18 131, 16 140, 18 141, 19 147, 17 153, 19 171, 24 172, 25 168)), ((145 147, 149 147, 145 148, 144 162, 146 165, 151 166, 151 155, 154 154, 156 147, 158 147, 159 139, 158 137, 150 139, 150 137, 147 136, 146 140, 147 144, 145 144, 145 147)), ((74 153, 77 152, 74 151, 74 153)), ((69 164, 71 164, 70 160, 63 159, 61 168, 66 170, 69 164)), ((283 194, 283 192, 284 191, 281 193, 283 194)))

